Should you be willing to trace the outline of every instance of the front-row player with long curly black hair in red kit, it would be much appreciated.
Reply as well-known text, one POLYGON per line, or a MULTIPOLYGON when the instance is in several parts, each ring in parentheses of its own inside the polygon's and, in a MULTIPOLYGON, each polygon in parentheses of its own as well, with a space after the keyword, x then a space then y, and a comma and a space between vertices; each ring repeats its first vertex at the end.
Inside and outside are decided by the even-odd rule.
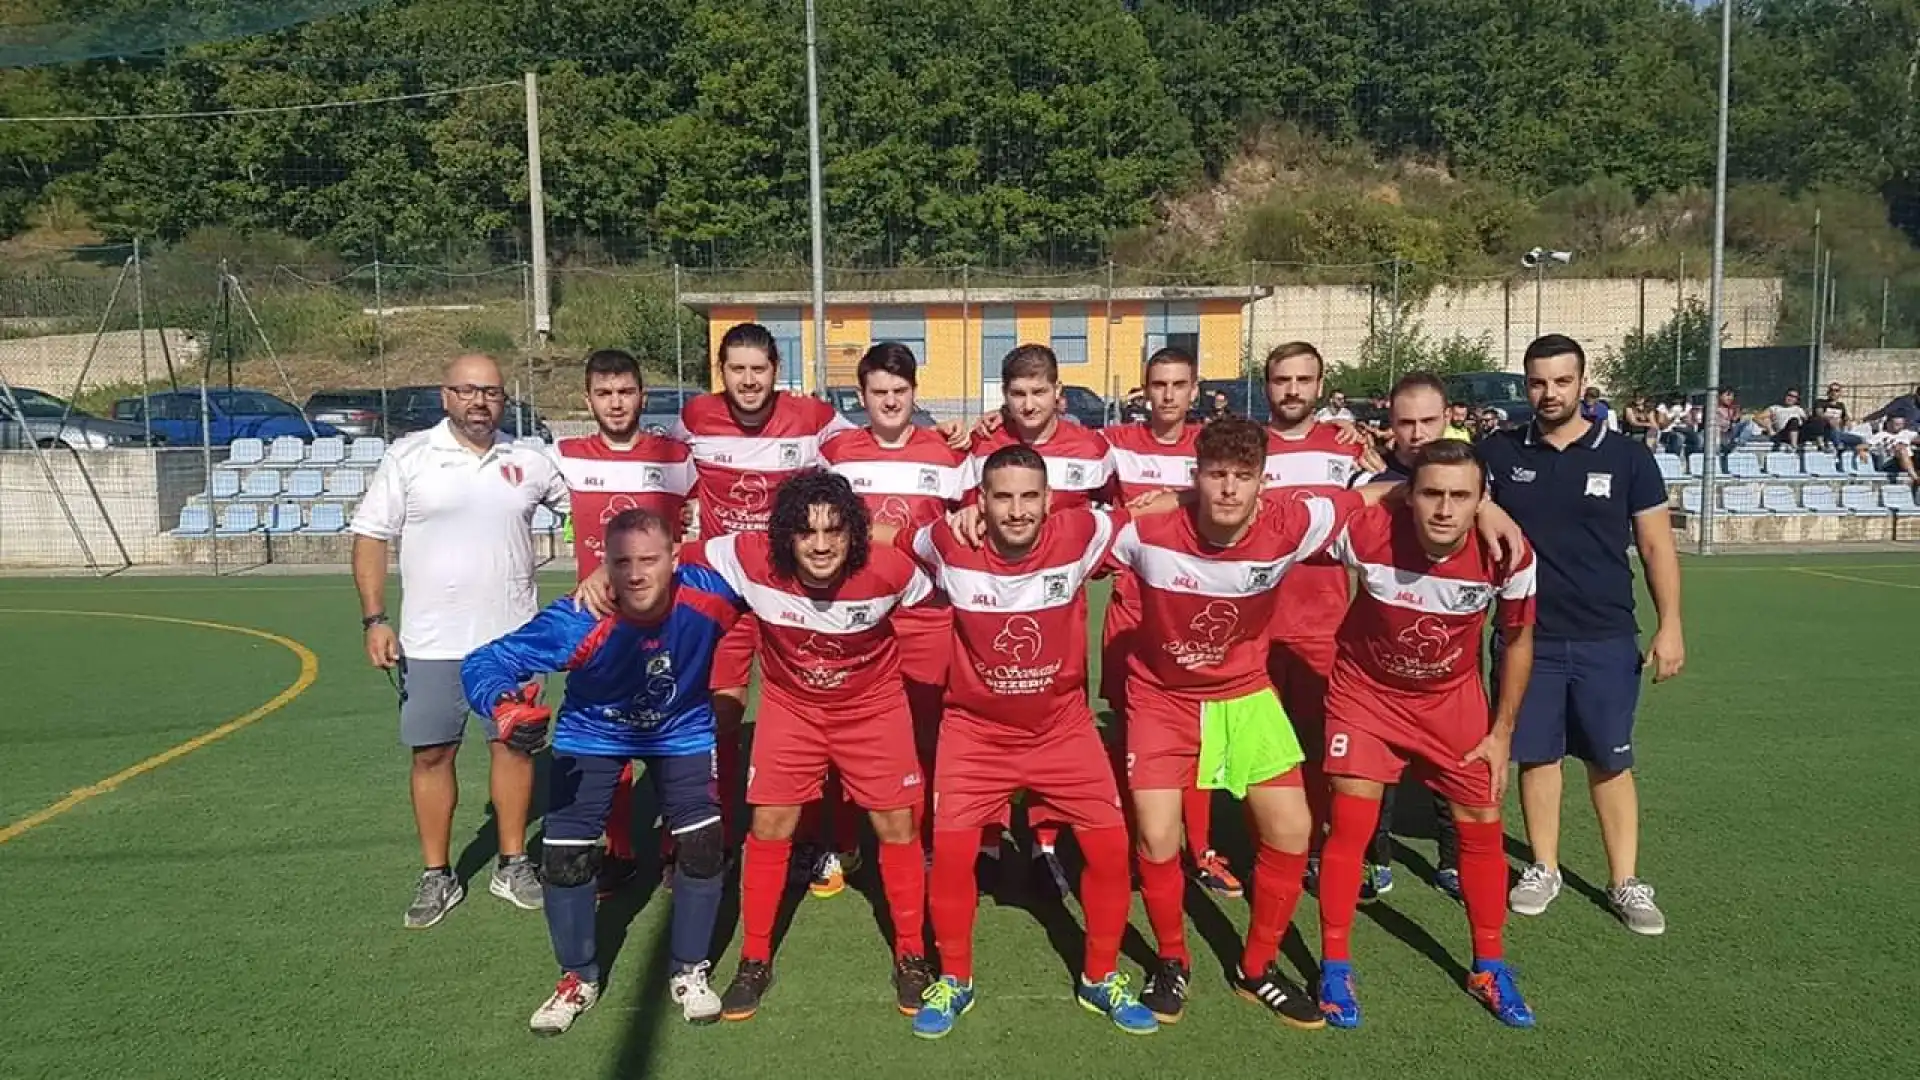
POLYGON ((868 527, 852 484, 812 469, 781 482, 764 532, 682 550, 685 561, 726 578, 760 621, 764 680, 747 771, 753 826, 741 863, 739 967, 722 995, 728 1020, 753 1017, 774 982, 774 922, 793 832, 828 769, 879 838, 900 1013, 916 1013, 933 982, 925 861, 914 834, 925 780, 893 638, 893 611, 925 601, 931 584, 910 555, 872 544, 868 527))

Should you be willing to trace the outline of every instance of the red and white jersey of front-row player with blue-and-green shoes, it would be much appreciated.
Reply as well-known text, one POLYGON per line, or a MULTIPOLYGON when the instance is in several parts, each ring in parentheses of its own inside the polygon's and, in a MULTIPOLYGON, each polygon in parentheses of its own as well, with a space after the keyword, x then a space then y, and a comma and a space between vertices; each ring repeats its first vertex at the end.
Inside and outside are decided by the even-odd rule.
POLYGON ((914 532, 914 557, 954 613, 948 709, 1025 730, 1085 715, 1083 588, 1116 532, 1114 515, 1102 509, 1052 511, 1021 559, 1000 557, 993 544, 970 548, 945 521, 914 532))

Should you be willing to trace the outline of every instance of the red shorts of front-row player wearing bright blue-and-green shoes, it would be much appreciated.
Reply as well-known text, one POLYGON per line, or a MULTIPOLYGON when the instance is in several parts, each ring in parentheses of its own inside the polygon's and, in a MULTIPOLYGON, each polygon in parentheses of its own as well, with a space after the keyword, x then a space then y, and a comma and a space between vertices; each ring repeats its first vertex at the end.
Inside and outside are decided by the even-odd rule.
POLYGON ((1075 828, 1127 824, 1087 709, 1062 715, 1041 732, 947 713, 933 776, 935 828, 1004 822, 1008 799, 1020 790, 1031 796, 1031 821, 1075 828))

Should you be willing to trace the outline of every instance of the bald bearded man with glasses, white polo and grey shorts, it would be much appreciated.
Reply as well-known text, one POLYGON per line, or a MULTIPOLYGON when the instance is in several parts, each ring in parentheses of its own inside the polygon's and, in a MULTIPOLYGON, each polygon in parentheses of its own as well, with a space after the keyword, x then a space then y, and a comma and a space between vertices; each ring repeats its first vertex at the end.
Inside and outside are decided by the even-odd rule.
MULTIPOLYGON (((566 480, 543 448, 499 434, 507 390, 499 365, 463 356, 447 365, 447 415, 388 448, 353 511, 353 588, 367 659, 399 673, 399 740, 413 751, 413 821, 424 872, 405 926, 424 930, 465 899, 449 847, 459 780, 453 755, 467 732, 461 661, 540 611, 534 590, 534 507, 566 505, 566 480), (396 634, 386 609, 388 550, 399 542, 407 596, 396 634)), ((526 911, 541 905, 526 857, 534 759, 499 742, 488 717, 490 796, 499 865, 488 892, 526 911)))

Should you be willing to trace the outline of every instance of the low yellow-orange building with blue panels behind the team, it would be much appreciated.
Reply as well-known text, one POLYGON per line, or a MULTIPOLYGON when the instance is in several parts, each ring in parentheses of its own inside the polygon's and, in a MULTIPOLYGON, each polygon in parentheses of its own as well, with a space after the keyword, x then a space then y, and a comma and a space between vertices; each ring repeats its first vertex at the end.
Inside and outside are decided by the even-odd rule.
MULTIPOLYGON (((1252 298, 1265 296, 1260 288, 1252 298)), ((1140 382, 1167 344, 1200 357, 1202 379, 1235 379, 1246 348, 1246 288, 906 288, 828 294, 828 386, 852 386, 860 354, 900 342, 920 357, 920 400, 933 411, 1000 404, 1000 359, 1041 342, 1060 356, 1060 380, 1112 400, 1140 382)), ((708 344, 735 323, 760 323, 780 342, 781 384, 812 392, 814 317, 806 292, 689 292, 708 344)), ((708 357, 708 373, 714 373, 708 357)), ((718 388, 718 375, 710 375, 718 388)))

